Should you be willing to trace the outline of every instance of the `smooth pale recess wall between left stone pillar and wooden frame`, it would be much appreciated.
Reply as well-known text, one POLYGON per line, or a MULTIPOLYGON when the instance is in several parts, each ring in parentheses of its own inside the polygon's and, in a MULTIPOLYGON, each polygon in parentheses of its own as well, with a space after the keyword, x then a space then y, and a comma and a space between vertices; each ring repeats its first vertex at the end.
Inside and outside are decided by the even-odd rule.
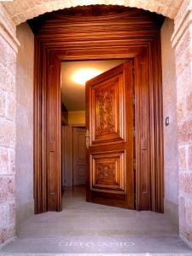
POLYGON ((33 201, 33 66, 34 35, 27 23, 16 29, 20 47, 16 72, 16 224, 34 214, 33 201))

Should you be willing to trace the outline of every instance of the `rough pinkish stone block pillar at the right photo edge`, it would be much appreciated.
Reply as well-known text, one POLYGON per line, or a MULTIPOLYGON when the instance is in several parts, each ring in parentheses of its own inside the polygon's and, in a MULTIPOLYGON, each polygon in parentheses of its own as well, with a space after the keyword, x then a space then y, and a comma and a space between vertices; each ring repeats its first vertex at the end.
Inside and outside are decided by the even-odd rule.
POLYGON ((192 1, 183 3, 175 20, 172 45, 177 73, 179 156, 179 233, 192 247, 192 1), (191 4, 189 3, 191 2, 191 4))

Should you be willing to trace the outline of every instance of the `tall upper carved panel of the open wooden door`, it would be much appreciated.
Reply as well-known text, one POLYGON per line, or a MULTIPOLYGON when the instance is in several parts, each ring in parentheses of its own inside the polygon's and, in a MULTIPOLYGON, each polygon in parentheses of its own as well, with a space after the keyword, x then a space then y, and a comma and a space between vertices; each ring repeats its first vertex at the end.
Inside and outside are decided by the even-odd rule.
POLYGON ((124 99, 120 99, 123 93, 123 73, 106 78, 102 83, 91 88, 91 144, 113 142, 123 140, 123 108, 124 99))

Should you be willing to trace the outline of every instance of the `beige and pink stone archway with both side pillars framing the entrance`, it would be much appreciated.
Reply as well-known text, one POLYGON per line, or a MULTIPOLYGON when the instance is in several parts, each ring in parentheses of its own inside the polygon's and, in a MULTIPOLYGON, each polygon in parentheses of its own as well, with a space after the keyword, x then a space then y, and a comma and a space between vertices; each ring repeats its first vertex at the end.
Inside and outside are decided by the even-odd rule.
POLYGON ((192 245, 192 0, 14 0, 0 3, 0 244, 15 236, 15 25, 58 9, 117 4, 175 20, 180 236, 192 245))

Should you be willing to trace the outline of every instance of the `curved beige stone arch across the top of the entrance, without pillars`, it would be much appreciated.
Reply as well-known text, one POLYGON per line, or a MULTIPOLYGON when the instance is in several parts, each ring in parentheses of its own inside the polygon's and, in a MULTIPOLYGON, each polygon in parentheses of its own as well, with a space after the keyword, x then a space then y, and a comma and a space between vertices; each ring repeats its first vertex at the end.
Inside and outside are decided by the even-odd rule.
POLYGON ((16 25, 46 12, 91 4, 137 7, 174 19, 183 0, 15 0, 3 3, 16 25))

